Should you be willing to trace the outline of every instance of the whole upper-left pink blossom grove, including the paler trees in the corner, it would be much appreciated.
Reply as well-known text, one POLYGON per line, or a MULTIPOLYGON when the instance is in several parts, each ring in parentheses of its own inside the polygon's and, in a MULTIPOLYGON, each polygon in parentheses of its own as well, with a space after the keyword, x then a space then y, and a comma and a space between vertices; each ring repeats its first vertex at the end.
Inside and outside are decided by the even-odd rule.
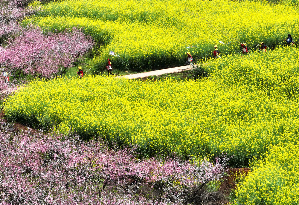
POLYGON ((9 72, 19 79, 27 75, 34 78, 62 76, 91 49, 93 41, 76 28, 58 34, 44 34, 40 28, 21 27, 19 22, 25 16, 41 9, 39 6, 24 7, 29 2, 0 1, 0 71, 9 72))

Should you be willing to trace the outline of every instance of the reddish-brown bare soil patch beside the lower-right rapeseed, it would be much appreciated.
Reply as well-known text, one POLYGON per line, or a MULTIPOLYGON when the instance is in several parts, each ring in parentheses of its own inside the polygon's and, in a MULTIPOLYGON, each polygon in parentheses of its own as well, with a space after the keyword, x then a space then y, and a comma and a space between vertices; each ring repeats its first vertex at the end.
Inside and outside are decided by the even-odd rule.
POLYGON ((228 176, 223 177, 223 182, 220 185, 220 190, 225 195, 229 195, 233 189, 237 189, 238 179, 236 176, 246 176, 250 172, 249 168, 229 168, 226 173, 228 176))

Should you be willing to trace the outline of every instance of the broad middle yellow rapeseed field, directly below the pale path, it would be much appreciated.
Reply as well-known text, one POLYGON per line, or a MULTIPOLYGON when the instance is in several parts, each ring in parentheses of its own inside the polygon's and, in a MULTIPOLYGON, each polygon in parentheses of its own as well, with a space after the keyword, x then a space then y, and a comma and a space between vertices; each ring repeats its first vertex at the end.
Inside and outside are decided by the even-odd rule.
POLYGON ((224 152, 246 165, 271 145, 299 140, 299 62, 287 56, 298 59, 298 49, 211 61, 204 67, 215 68, 211 77, 197 81, 36 81, 10 97, 4 110, 9 120, 138 144, 146 154, 224 152))

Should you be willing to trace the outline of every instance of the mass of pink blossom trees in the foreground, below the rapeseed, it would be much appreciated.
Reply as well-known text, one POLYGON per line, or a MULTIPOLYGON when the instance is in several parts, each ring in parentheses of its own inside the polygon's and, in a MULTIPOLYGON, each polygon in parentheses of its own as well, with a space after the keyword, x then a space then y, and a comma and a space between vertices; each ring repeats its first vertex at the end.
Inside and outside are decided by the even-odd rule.
POLYGON ((219 161, 138 160, 134 150, 0 123, 0 204, 188 204, 225 169, 219 161))

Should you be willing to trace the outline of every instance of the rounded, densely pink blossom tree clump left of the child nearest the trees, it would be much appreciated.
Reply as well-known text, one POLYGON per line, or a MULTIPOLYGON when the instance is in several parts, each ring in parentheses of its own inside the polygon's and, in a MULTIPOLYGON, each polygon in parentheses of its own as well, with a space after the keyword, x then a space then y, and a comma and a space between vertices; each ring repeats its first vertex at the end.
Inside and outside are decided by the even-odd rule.
POLYGON ((19 78, 61 76, 92 45, 92 39, 76 28, 45 35, 40 28, 30 27, 9 40, 6 47, 0 47, 0 66, 19 78))

